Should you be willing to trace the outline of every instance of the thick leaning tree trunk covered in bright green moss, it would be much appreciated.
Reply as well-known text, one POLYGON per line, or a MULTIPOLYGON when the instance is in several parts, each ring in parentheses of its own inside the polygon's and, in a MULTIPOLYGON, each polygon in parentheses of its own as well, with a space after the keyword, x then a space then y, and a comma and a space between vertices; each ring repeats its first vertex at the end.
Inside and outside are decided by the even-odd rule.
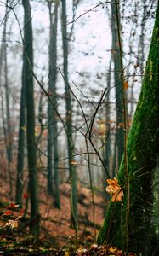
MULTIPOLYGON (((159 151, 159 2, 145 69, 139 102, 133 125, 128 134, 128 170, 130 178, 130 216, 128 227, 129 250, 150 255, 152 215, 152 182, 156 154, 159 151)), ((120 166, 119 181, 125 190, 124 163, 120 166)), ((113 243, 122 247, 122 224, 126 200, 110 203, 105 221, 99 231, 99 244, 113 243)))

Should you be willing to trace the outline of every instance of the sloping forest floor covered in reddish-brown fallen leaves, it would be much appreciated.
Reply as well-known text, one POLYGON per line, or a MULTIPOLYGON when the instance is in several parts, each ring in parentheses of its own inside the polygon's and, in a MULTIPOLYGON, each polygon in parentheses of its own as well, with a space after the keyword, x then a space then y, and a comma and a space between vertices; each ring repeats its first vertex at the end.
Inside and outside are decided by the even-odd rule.
MULTIPOLYGON (((14 179, 13 179, 14 181, 14 179)), ((17 228, 7 226, 9 220, 20 216, 20 207, 14 205, 9 195, 9 186, 1 179, 0 189, 0 255, 122 255, 112 247, 98 247, 95 237, 104 219, 106 202, 101 192, 78 185, 78 234, 71 227, 70 184, 61 185, 60 209, 54 207, 54 199, 46 192, 46 178, 40 177, 39 203, 41 230, 38 240, 29 231, 29 207, 26 217, 18 219, 17 228), (14 207, 12 214, 10 206, 14 207), (94 222, 95 220, 95 222, 94 222)), ((13 196, 14 198, 14 196, 13 196)), ((24 207, 26 201, 24 199, 24 207)))

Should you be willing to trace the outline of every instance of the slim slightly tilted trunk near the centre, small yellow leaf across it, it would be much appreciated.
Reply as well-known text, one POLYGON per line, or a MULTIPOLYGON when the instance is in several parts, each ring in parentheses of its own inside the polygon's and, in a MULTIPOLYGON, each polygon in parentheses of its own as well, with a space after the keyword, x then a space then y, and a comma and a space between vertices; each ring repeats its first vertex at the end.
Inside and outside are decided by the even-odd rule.
POLYGON ((72 106, 71 106, 71 92, 69 89, 68 79, 68 38, 66 29, 66 1, 62 0, 62 42, 63 42, 63 55, 64 55, 64 82, 65 82, 65 106, 66 106, 66 136, 67 136, 67 150, 68 161, 71 178, 71 222, 75 230, 77 230, 77 171, 74 154, 74 142, 72 136, 72 106))

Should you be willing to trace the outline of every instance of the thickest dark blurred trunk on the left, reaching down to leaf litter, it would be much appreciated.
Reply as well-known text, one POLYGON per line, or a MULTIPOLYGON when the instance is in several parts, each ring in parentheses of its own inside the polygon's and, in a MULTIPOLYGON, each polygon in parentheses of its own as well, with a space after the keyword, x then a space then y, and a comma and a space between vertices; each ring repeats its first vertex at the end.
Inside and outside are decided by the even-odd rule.
POLYGON ((37 194, 37 148, 35 140, 35 113, 34 113, 34 90, 33 90, 33 47, 31 7, 29 0, 22 0, 25 12, 24 26, 24 83, 26 87, 26 123, 27 123, 27 156, 29 169, 29 190, 31 198, 31 231, 38 236, 39 212, 37 194))

